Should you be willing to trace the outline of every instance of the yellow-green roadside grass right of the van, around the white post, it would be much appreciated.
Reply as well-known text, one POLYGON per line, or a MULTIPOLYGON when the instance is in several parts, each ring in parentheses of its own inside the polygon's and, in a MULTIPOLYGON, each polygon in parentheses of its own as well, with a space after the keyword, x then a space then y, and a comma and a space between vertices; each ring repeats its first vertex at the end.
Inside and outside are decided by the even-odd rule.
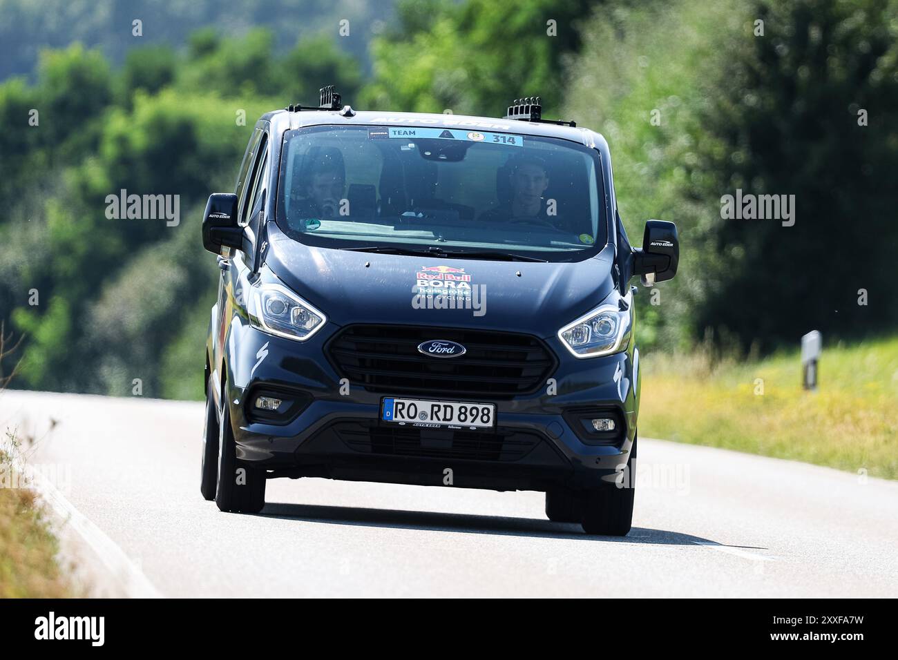
POLYGON ((802 389, 797 350, 642 366, 641 435, 898 479, 898 337, 824 346, 817 392, 802 389))

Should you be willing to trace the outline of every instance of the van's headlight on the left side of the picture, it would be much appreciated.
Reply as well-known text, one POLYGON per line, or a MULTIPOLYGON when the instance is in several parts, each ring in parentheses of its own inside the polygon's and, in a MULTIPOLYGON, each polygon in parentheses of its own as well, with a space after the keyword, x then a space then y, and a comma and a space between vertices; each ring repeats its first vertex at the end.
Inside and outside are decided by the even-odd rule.
POLYGON ((305 341, 321 329, 327 318, 285 286, 251 287, 250 323, 279 337, 305 341))

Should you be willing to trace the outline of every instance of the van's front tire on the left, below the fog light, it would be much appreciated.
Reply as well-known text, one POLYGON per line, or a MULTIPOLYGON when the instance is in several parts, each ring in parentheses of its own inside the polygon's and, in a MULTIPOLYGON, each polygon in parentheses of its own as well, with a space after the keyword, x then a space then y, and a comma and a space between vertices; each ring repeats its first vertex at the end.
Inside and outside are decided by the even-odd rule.
POLYGON ((218 433, 216 505, 234 514, 258 514, 265 506, 265 481, 264 470, 237 459, 231 409, 225 401, 218 433))

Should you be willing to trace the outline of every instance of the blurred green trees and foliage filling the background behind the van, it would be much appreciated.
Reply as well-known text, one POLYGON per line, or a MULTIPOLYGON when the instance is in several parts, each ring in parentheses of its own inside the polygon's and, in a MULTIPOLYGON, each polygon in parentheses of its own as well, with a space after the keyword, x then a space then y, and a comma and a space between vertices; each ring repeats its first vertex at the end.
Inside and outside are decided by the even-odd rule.
POLYGON ((637 296, 647 348, 892 332, 896 5, 0 0, 0 320, 25 335, 16 384, 127 395, 140 378, 147 396, 200 396, 217 272, 202 207, 233 187, 255 119, 321 84, 357 109, 494 116, 539 94, 546 116, 602 132, 631 242, 649 217, 680 229, 680 275, 659 305, 637 296), (721 220, 737 188, 794 194, 795 226, 721 220), (119 189, 179 194, 180 224, 107 219, 119 189))

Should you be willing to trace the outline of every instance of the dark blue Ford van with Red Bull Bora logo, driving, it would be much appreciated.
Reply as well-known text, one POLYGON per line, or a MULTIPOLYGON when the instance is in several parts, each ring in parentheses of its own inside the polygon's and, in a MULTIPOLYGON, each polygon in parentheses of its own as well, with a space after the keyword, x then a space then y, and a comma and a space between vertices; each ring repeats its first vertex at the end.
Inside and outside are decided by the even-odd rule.
POLYGON ((504 119, 363 112, 333 88, 256 124, 209 198, 220 268, 201 491, 266 480, 538 490, 629 532, 639 351, 629 282, 674 277, 674 224, 631 248, 608 145, 538 99, 504 119))

